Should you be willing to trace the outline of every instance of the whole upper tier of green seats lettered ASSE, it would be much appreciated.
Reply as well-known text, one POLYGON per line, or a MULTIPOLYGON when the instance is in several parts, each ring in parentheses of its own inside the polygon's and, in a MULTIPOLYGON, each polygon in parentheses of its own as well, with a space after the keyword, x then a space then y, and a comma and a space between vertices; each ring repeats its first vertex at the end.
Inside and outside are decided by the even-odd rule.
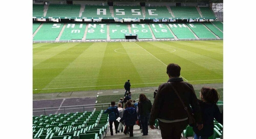
MULTIPOLYGON (((82 6, 79 4, 49 4, 46 17, 79 17, 82 6)), ((175 18, 201 18, 195 6, 170 6, 175 18)), ((209 7, 200 7, 203 18, 215 19, 209 7)), ((141 6, 113 6, 113 16, 109 6, 85 6, 81 17, 86 18, 173 18, 166 6, 145 6, 145 16, 141 6)), ((44 15, 44 5, 33 4, 33 16, 44 15)))

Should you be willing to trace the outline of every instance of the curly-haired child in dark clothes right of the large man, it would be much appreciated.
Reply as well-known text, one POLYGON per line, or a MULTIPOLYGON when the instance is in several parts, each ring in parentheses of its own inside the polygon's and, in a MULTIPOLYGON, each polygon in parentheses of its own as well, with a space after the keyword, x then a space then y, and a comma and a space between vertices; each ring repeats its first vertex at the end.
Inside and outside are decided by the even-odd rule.
POLYGON ((223 125, 223 115, 217 106, 220 95, 216 89, 209 87, 201 88, 199 94, 204 127, 198 130, 196 126, 193 126, 194 139, 208 139, 214 133, 214 118, 223 125))

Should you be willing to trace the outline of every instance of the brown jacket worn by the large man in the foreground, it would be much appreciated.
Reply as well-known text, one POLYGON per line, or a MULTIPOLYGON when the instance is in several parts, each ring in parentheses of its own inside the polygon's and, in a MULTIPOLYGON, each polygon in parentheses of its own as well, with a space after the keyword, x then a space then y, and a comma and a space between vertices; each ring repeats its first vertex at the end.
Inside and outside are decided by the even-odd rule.
POLYGON ((202 124, 201 110, 192 84, 183 82, 180 77, 171 78, 168 82, 161 84, 158 88, 158 93, 155 96, 150 114, 149 125, 154 125, 155 120, 158 118, 164 120, 179 120, 188 117, 172 85, 179 93, 188 111, 191 113, 193 109, 197 123, 202 124))

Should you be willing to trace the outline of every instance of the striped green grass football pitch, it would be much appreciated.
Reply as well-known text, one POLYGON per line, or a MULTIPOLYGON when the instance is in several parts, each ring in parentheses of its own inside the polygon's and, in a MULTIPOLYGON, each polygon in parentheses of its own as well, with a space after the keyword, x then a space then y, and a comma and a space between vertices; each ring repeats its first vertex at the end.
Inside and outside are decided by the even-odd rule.
POLYGON ((159 86, 169 63, 192 84, 223 83, 223 41, 33 44, 33 94, 159 86))

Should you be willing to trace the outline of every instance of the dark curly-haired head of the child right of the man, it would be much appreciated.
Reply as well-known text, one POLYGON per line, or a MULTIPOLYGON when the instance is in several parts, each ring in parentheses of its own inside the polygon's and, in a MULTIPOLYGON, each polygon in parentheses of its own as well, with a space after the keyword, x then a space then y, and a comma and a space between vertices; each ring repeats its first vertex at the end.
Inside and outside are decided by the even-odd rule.
POLYGON ((202 101, 216 104, 220 95, 216 89, 210 87, 201 88, 200 97, 202 101))

